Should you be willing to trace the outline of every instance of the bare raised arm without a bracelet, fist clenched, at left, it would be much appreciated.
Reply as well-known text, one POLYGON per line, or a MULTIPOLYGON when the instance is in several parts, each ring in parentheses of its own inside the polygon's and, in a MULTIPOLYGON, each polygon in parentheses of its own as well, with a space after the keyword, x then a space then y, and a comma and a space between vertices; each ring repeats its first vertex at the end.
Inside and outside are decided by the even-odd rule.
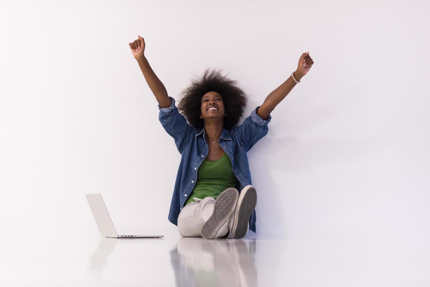
POLYGON ((138 35, 138 39, 134 40, 132 43, 129 43, 129 46, 133 54, 133 57, 138 62, 139 67, 143 73, 143 76, 145 77, 145 80, 149 88, 151 89, 152 93, 154 94, 155 98, 157 99, 157 102, 160 105, 160 107, 161 108, 170 107, 170 105, 172 104, 172 101, 170 100, 167 94, 166 87, 163 85, 163 83, 154 73, 151 66, 149 65, 148 60, 144 55, 144 50, 145 50, 144 39, 140 37, 140 35, 138 35))

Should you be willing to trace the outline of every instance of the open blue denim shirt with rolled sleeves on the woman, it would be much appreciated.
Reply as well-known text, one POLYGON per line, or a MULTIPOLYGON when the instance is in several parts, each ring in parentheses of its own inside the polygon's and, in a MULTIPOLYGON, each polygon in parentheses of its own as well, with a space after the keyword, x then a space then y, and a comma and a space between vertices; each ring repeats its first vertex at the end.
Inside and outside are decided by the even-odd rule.
MULTIPOLYGON (((169 96, 172 105, 169 108, 160 108, 158 119, 164 130, 175 139, 175 145, 181 154, 181 162, 176 175, 175 187, 173 189, 172 201, 170 203, 170 222, 178 226, 178 216, 182 210, 187 197, 190 195, 197 181, 197 170, 209 153, 209 147, 204 139, 205 127, 198 129, 187 123, 187 119, 179 113, 175 106, 175 99, 169 96)), ((246 185, 252 185, 251 173, 249 171, 248 157, 249 151, 258 140, 263 138, 269 128, 267 124, 272 118, 269 115, 267 120, 263 120, 257 114, 257 108, 251 112, 242 124, 226 130, 223 128, 218 143, 225 153, 230 157, 233 173, 236 176, 236 189, 242 191, 246 185)), ((257 216, 255 209, 249 217, 249 229, 256 233, 255 222, 257 216)))

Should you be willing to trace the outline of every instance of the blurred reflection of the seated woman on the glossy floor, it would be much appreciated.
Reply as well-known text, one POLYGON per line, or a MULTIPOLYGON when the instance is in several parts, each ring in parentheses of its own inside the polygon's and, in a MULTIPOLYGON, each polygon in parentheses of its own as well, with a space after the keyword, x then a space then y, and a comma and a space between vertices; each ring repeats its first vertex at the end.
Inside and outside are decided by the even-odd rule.
POLYGON ((180 238, 170 251, 176 286, 257 286, 255 246, 255 239, 180 238))

